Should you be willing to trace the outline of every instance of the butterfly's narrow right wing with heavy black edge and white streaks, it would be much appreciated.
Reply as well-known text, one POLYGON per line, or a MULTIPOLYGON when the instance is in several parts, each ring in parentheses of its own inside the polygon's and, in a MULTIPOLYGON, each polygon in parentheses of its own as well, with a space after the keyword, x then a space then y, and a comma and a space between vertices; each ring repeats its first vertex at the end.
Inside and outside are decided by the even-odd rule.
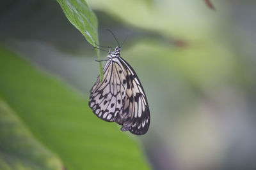
POLYGON ((132 134, 142 135, 150 125, 150 111, 146 94, 134 69, 122 58, 120 62, 126 69, 127 91, 124 98, 123 115, 128 115, 122 131, 129 130, 132 134))

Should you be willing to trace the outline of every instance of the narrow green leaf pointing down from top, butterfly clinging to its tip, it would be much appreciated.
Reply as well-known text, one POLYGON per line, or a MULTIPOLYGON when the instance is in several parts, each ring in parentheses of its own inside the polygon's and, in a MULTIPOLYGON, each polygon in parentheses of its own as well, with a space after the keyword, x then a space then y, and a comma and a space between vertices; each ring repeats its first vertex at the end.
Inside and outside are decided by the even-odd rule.
MULTIPOLYGON (((73 24, 87 39, 95 46, 99 45, 98 38, 98 20, 93 11, 86 4, 85 0, 57 0, 68 20, 73 24)), ((100 60, 100 51, 95 48, 98 60, 100 60)), ((103 80, 102 64, 99 62, 100 80, 103 80)))

